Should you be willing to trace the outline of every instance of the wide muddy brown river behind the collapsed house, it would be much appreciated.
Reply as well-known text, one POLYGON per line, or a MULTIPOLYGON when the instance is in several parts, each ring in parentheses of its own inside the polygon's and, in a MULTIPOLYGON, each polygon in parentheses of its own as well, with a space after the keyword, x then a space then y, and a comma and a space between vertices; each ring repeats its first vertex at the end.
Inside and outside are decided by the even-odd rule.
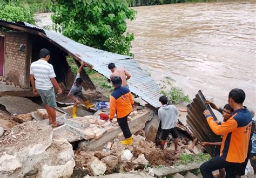
POLYGON ((256 109, 256 3, 186 3, 140 6, 132 52, 156 80, 173 78, 191 98, 202 90, 218 105, 232 88, 256 109))

